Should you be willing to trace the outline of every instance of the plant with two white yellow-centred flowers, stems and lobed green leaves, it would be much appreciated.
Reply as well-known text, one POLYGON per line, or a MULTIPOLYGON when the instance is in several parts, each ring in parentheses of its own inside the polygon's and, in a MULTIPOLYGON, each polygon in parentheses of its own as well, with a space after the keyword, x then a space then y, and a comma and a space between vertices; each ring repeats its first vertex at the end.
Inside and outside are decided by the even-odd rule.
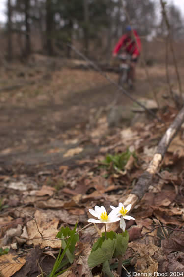
POLYGON ((125 230, 126 225, 124 219, 130 220, 134 218, 126 215, 131 209, 131 204, 126 208, 122 203, 119 203, 118 207, 110 207, 112 208, 112 211, 109 215, 103 206, 95 206, 94 210, 89 209, 90 214, 92 214, 94 217, 97 217, 98 219, 89 219, 88 222, 104 223, 105 232, 102 233, 102 237, 100 237, 97 242, 94 243, 91 254, 88 258, 88 265, 90 268, 93 268, 102 264, 103 273, 108 277, 113 277, 114 275, 110 270, 109 261, 112 258, 118 259, 118 264, 116 265, 118 267, 117 272, 119 276, 121 276, 122 256, 125 254, 129 241, 129 234, 125 230), (120 227, 123 230, 122 233, 117 234, 113 231, 106 232, 106 224, 116 221, 120 221, 120 227))

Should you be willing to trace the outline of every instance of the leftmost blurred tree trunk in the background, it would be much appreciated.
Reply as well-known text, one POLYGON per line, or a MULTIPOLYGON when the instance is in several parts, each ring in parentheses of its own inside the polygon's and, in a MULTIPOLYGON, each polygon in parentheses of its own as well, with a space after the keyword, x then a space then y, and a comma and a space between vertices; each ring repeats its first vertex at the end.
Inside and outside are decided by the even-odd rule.
POLYGON ((11 6, 11 0, 8 0, 7 2, 7 10, 8 10, 8 22, 7 22, 7 50, 8 55, 7 58, 9 61, 12 60, 13 53, 12 53, 12 6, 11 6))

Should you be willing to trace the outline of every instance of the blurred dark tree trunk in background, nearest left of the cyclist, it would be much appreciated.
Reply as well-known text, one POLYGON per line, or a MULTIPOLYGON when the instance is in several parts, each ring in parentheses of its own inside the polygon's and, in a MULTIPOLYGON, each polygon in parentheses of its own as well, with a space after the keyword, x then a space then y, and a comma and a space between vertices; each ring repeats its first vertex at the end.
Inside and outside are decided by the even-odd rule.
POLYGON ((88 0, 83 0, 84 8, 84 53, 89 54, 89 4, 88 0))

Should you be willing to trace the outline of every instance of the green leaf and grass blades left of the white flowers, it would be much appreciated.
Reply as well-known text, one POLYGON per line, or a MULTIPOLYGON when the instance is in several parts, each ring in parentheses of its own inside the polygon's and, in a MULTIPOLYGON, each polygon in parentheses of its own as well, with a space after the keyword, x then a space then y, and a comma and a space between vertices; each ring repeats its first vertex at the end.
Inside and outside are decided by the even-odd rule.
POLYGON ((73 230, 70 230, 69 227, 66 227, 66 228, 62 227, 61 230, 58 232, 56 237, 59 239, 62 239, 61 248, 59 250, 59 254, 57 256, 57 259, 53 266, 53 270, 50 273, 49 277, 56 277, 62 274, 67 269, 64 269, 64 270, 61 270, 61 269, 65 267, 67 264, 73 263, 75 258, 74 256, 75 244, 79 240, 79 235, 75 233, 76 228, 77 228, 77 222, 73 230), (61 254, 62 249, 63 249, 63 252, 61 254))

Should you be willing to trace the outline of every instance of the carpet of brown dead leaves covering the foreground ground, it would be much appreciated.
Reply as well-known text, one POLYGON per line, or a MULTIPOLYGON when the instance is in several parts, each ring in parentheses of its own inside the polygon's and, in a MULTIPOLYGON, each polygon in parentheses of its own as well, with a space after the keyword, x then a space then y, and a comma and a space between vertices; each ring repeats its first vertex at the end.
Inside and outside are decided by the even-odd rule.
MULTIPOLYGON (((77 128, 73 134, 71 130, 66 132, 65 144, 74 146, 68 148, 65 158, 76 159, 85 151, 85 143, 99 148, 94 156, 77 158, 74 167, 58 164, 48 170, 38 165, 33 174, 22 174, 19 167, 2 169, 0 247, 10 249, 0 256, 0 272, 4 276, 38 276, 40 268, 48 274, 62 244, 56 240, 60 228, 73 227, 78 221, 79 231, 87 225, 89 208, 96 204, 116 206, 120 197, 126 200, 148 167, 160 135, 172 121, 167 116, 166 126, 157 121, 137 122, 114 128, 112 134, 104 115, 101 119, 83 131, 82 139, 77 128), (129 151, 135 156, 125 155, 126 161, 121 160, 129 151)), ((133 209, 136 220, 127 223, 127 269, 133 266, 137 272, 151 274, 184 270, 184 232, 178 231, 184 231, 183 134, 184 127, 171 143, 149 191, 133 209)), ((59 154, 60 149, 51 148, 47 153, 59 154)), ((79 233, 76 259, 61 276, 93 276, 87 257, 98 231, 89 226, 79 233)))

